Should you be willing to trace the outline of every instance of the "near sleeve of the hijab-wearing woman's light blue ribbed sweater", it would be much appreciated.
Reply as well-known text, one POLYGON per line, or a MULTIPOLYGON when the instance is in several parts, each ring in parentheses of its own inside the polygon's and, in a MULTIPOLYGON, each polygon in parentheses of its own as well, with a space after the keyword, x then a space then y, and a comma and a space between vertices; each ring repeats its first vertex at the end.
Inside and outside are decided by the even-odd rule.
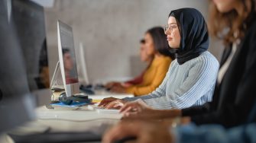
MULTIPOLYGON (((156 92, 149 94, 147 98, 144 97, 142 100, 156 109, 182 109, 193 106, 208 92, 211 92, 208 94, 212 96, 216 75, 219 70, 219 62, 211 56, 203 56, 202 58, 189 69, 187 78, 176 91, 167 93, 167 95, 157 94, 157 91, 160 92, 160 89, 157 88, 156 92)), ((172 73, 170 72, 169 74, 172 73)))

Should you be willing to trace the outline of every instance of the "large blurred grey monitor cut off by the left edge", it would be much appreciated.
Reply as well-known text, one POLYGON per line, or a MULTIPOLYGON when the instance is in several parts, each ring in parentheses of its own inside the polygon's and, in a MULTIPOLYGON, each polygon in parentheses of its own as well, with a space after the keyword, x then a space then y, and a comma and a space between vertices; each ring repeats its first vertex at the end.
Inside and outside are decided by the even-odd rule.
POLYGON ((23 50, 10 12, 15 7, 9 2, 0 1, 0 134, 35 117, 23 50))

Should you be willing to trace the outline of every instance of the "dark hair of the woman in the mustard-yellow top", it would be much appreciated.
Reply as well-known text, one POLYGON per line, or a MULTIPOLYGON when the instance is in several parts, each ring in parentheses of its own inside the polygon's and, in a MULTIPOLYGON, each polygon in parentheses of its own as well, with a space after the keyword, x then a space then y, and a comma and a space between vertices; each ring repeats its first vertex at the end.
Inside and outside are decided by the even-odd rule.
POLYGON ((164 28, 153 27, 147 30, 146 33, 151 35, 154 42, 154 49, 156 49, 157 52, 164 56, 169 56, 171 59, 176 58, 175 54, 169 51, 170 48, 168 46, 167 36, 164 33, 164 28))

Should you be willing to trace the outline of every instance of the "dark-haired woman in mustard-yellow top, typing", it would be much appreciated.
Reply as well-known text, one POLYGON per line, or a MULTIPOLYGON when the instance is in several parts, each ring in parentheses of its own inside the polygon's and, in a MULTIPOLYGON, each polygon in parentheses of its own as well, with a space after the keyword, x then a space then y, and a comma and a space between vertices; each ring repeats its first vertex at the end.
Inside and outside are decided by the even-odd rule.
POLYGON ((149 65, 141 76, 125 84, 111 82, 105 87, 116 93, 134 94, 141 96, 154 91, 164 80, 175 54, 168 50, 168 43, 162 27, 153 27, 144 35, 141 41, 141 60, 149 65))

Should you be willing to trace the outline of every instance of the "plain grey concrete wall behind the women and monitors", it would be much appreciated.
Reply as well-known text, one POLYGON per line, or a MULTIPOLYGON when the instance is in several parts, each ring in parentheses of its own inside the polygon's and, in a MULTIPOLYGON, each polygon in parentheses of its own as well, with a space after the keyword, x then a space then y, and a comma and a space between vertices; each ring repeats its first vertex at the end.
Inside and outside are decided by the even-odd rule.
MULTIPOLYGON (((138 75, 145 66, 138 58, 144 32, 167 24, 170 11, 184 7, 197 8, 207 17, 206 0, 56 0, 53 8, 45 8, 50 75, 58 60, 57 19, 73 27, 76 56, 83 43, 89 81, 93 82, 138 75)), ((213 42, 213 46, 219 44, 213 42)), ((215 47, 210 51, 219 58, 221 50, 215 47)))

